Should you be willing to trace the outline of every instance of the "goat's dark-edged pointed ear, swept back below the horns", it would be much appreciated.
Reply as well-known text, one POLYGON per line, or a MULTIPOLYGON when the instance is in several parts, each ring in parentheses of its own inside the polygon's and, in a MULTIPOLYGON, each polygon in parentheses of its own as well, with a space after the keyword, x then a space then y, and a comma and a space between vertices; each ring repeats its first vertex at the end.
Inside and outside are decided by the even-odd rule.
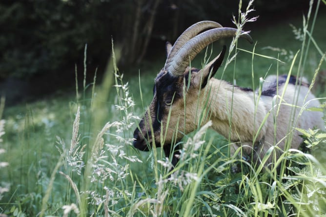
POLYGON ((201 88, 204 88, 208 82, 208 79, 214 77, 215 73, 217 72, 218 68, 221 66, 224 55, 226 51, 226 46, 223 46, 223 50, 221 53, 212 61, 210 61, 205 67, 200 70, 194 78, 194 84, 200 85, 201 88))

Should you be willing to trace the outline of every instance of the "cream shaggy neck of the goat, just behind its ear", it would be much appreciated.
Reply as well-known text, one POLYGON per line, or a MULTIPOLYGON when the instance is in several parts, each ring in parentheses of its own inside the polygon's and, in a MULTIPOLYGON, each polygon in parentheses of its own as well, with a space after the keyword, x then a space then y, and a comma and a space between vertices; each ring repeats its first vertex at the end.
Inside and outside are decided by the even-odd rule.
MULTIPOLYGON (((230 136, 232 141, 253 141, 266 111, 263 102, 255 102, 252 91, 241 90, 224 80, 210 79, 203 94, 209 96, 210 119, 217 132, 226 138, 230 136)), ((264 134, 265 127, 257 139, 264 134)))

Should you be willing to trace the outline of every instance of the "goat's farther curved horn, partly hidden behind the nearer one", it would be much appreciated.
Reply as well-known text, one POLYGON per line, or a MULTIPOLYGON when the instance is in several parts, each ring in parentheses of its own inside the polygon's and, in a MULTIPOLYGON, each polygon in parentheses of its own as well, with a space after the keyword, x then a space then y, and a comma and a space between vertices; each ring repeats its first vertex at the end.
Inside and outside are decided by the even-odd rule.
POLYGON ((179 38, 174 42, 174 45, 167 55, 166 62, 169 59, 172 59, 178 50, 185 44, 188 40, 197 36, 199 33, 203 32, 206 29, 222 28, 223 26, 214 21, 201 21, 191 25, 189 28, 184 30, 184 32, 179 36, 179 38))

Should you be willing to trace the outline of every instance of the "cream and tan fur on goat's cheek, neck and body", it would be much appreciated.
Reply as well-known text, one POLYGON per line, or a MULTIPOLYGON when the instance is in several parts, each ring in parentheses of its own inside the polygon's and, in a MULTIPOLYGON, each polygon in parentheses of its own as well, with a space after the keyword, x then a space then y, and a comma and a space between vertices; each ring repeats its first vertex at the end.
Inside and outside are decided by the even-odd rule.
MULTIPOLYGON (((265 89, 269 87, 268 82, 276 80, 276 77, 272 76, 266 80, 265 86, 263 86, 265 89)), ((205 117, 208 112, 208 118, 202 120, 201 125, 204 125, 211 119, 214 130, 226 138, 230 136, 231 140, 236 142, 235 148, 242 146, 248 156, 253 152, 255 159, 257 157, 262 159, 271 146, 276 145, 281 150, 284 150, 287 139, 291 140, 292 138, 291 148, 298 148, 303 139, 294 128, 308 129, 316 126, 324 129, 323 113, 306 110, 310 107, 320 106, 319 101, 314 99, 315 97, 311 93, 308 93, 305 100, 308 92, 307 86, 288 84, 282 105, 277 114, 283 90, 284 85, 281 85, 278 89, 279 97, 274 98, 261 96, 258 99, 258 93, 255 93, 255 102, 253 92, 243 91, 223 80, 212 78, 205 88, 201 90, 199 86, 194 85, 184 96, 186 109, 184 110, 183 100, 178 100, 171 106, 171 117, 169 118, 168 125, 167 117, 163 117, 161 125, 163 128, 161 131, 162 135, 166 135, 164 141, 172 142, 173 135, 174 139, 178 140, 183 137, 183 133, 192 132, 198 126, 200 116, 205 117), (274 106, 272 103, 273 99, 274 106), (287 104, 296 104, 298 107, 287 104), (258 132, 268 113, 270 114, 266 122, 258 132), (299 113, 302 114, 299 116, 299 113), (274 119, 276 120, 276 132, 274 130, 274 119), (229 120, 231 120, 231 130, 229 120), (179 133, 177 138, 175 138, 177 124, 179 124, 179 133), (167 132, 166 126, 168 126, 167 132), (258 134, 257 138, 253 141, 256 134, 258 134), (274 135, 276 135, 275 138, 274 135), (254 149, 255 145, 257 149, 254 149)), ((280 155, 279 152, 276 154, 277 156, 280 155)), ((271 162, 273 162, 273 159, 270 157, 267 163, 271 162)))

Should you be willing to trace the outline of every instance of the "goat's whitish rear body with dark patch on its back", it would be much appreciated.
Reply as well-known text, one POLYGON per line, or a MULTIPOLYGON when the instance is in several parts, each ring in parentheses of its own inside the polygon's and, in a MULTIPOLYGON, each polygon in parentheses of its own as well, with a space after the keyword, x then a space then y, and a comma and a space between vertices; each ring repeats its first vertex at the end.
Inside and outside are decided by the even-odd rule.
POLYGON ((265 123, 267 125, 264 147, 259 154, 261 158, 275 144, 284 150, 285 144, 290 141, 291 148, 298 148, 303 138, 295 128, 325 129, 323 112, 309 110, 320 107, 320 103, 309 91, 307 80, 291 76, 286 85, 286 79, 286 75, 269 76, 262 87, 260 100, 263 100, 270 115, 265 123))

